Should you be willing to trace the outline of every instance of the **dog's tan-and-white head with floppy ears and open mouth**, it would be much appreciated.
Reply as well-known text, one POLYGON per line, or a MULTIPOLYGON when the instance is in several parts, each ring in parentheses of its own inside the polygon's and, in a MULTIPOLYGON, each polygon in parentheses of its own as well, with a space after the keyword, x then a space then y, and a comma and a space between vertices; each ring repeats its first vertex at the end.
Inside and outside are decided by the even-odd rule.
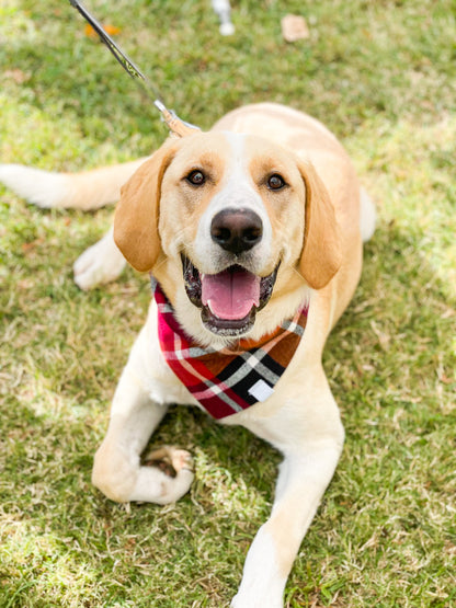
POLYGON ((123 187, 114 238, 178 316, 190 300, 218 336, 248 334, 271 299, 303 278, 320 289, 340 266, 334 209, 312 165, 230 133, 166 142, 123 187))

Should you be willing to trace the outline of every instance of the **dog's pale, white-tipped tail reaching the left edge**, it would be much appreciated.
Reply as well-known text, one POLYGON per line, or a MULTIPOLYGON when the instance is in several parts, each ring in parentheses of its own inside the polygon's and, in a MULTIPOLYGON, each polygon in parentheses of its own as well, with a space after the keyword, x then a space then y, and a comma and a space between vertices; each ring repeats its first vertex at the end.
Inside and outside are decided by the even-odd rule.
POLYGON ((117 202, 121 187, 145 160, 147 158, 81 173, 0 164, 0 182, 38 207, 87 211, 117 202))

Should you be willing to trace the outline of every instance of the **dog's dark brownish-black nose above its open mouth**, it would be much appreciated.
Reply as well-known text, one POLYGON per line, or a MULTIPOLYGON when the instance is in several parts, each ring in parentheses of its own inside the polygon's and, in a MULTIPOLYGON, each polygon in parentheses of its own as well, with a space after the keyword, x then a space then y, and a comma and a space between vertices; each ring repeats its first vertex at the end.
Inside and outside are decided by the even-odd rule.
POLYGON ((243 253, 261 241, 263 222, 251 209, 224 209, 214 216, 210 237, 230 253, 243 253))

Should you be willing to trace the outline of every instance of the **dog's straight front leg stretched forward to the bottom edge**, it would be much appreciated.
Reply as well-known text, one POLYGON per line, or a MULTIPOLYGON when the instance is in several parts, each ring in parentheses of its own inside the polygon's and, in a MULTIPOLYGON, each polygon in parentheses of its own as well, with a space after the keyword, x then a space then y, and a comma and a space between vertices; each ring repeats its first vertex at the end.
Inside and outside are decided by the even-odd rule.
POLYGON ((343 445, 343 427, 329 389, 327 398, 314 404, 310 416, 300 409, 301 418, 292 415, 287 424, 281 415, 272 416, 266 424, 263 421, 260 435, 276 445, 285 458, 280 468, 271 517, 260 528, 249 550, 232 608, 283 606, 289 571, 331 481, 343 445))

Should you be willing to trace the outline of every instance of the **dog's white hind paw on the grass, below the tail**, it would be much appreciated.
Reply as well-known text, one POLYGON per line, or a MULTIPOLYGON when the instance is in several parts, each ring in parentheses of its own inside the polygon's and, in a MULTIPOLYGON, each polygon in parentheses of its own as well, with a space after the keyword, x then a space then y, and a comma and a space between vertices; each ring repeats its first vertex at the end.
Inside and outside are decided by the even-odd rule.
POLYGON ((125 259, 116 248, 112 230, 98 243, 87 249, 75 262, 75 283, 84 291, 110 283, 118 277, 125 266, 125 259))

